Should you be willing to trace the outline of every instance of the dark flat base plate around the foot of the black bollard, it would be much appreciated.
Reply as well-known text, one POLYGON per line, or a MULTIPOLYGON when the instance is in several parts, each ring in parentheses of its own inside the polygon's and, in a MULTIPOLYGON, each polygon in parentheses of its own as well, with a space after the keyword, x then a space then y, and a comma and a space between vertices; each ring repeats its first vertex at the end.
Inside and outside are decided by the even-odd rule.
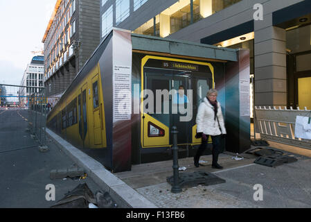
MULTIPOLYGON (((170 176, 166 178, 166 181, 173 185, 174 177, 170 176)), ((197 185, 217 185, 224 182, 226 180, 215 176, 213 173, 202 171, 179 173, 179 185, 182 188, 196 187, 197 185)))

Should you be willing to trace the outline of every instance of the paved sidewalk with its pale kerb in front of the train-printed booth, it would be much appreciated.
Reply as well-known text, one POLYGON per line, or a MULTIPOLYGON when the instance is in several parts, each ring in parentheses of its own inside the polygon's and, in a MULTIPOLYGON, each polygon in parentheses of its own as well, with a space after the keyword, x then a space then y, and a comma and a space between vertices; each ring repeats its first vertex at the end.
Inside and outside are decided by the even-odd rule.
MULTIPOLYGON (((179 159, 185 172, 206 171, 214 173, 225 183, 184 188, 172 194, 166 178, 172 176, 172 160, 133 165, 131 171, 111 173, 102 164, 64 141, 47 129, 49 137, 73 161, 84 168, 101 189, 108 191, 119 207, 133 208, 258 208, 258 207, 311 207, 311 151, 284 146, 297 162, 278 167, 254 164, 255 157, 245 155, 235 160, 233 153, 222 153, 219 158, 222 170, 211 168, 211 155, 201 160, 204 167, 195 168, 193 157, 179 159), (301 155, 303 154, 303 155, 301 155), (263 186, 263 200, 255 200, 257 189, 263 186)), ((282 149, 282 144, 274 144, 282 149)), ((270 144, 270 146, 272 146, 270 144)), ((276 147, 274 147, 276 148, 276 147)), ((183 173, 184 171, 179 171, 183 173)))

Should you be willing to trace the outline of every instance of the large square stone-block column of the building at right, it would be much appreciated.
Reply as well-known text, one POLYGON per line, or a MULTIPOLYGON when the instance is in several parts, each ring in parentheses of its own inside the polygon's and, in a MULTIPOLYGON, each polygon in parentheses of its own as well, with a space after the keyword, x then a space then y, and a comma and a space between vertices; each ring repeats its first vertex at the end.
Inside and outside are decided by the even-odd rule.
POLYGON ((255 105, 287 105, 286 32, 272 26, 272 14, 254 21, 255 105))

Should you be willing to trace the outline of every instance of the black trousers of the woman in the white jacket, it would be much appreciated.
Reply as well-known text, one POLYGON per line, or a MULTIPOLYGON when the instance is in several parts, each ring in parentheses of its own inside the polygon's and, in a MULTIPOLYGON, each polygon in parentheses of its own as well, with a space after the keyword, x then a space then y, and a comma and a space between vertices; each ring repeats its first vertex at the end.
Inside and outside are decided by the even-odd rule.
MULTIPOLYGON (((218 155, 220 154, 221 150, 221 138, 222 135, 217 135, 217 136, 211 136, 212 137, 212 142, 213 142, 213 149, 212 149, 212 155, 213 155, 213 162, 212 165, 217 164, 218 161, 218 155)), ((202 137, 202 144, 199 146, 197 149, 197 153, 195 154, 195 162, 199 162, 199 157, 202 156, 203 152, 205 151, 207 147, 207 142, 208 142, 208 135, 206 135, 206 139, 204 140, 202 137)))

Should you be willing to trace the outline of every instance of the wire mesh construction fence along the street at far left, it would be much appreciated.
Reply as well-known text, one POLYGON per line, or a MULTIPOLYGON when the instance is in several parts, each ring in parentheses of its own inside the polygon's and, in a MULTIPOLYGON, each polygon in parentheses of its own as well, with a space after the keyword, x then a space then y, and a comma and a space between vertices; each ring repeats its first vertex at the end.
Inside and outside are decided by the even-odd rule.
POLYGON ((0 148, 46 146, 46 89, 0 84, 0 148), (26 132, 25 132, 26 128, 26 132), (28 137, 30 133, 30 139, 28 137), (6 144, 6 146, 3 146, 6 144), (2 146, 1 146, 2 145, 2 146))

